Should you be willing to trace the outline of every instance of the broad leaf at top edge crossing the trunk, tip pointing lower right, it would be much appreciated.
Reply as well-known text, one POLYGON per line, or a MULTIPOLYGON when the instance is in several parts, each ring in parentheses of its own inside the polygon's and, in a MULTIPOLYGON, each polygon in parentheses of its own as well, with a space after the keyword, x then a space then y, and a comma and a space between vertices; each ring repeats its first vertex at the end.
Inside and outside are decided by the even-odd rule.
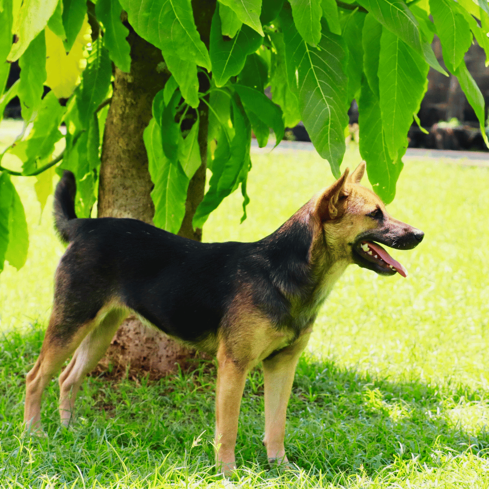
POLYGON ((166 56, 178 56, 211 71, 205 44, 200 40, 190 0, 122 0, 137 34, 166 56))

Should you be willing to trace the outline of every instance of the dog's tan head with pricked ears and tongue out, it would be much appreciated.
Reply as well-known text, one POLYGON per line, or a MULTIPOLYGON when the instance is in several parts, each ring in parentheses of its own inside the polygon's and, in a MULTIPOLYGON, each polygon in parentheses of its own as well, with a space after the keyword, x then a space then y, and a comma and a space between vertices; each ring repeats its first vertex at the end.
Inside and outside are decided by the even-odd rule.
POLYGON ((326 249, 334 260, 347 260, 381 275, 406 269, 380 246, 412 249, 421 243, 420 229, 390 216, 378 196, 360 185, 365 173, 362 161, 350 175, 348 168, 314 201, 313 214, 324 230, 326 249))

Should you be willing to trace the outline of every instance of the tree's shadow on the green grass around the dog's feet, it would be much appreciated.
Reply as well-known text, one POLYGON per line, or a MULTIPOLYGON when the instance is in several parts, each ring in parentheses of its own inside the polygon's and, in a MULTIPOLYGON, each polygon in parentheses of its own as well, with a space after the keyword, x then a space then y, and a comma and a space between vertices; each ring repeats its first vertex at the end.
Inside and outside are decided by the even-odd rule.
MULTIPOLYGON (((23 439, 24 378, 42 338, 35 327, 25 335, 8 333, 0 341, 0 453, 10 454, 8 459, 0 457, 5 464, 0 477, 14 477, 29 463, 32 477, 63 473, 67 483, 78 477, 78 470, 87 477, 99 473, 93 467, 104 467, 102 482, 121 467, 132 467, 145 477, 157 466, 160 471, 176 466, 202 471, 213 464, 216 372, 208 361, 200 361, 194 371, 157 380, 116 372, 89 377, 69 430, 59 425, 59 390, 53 380, 42 409, 48 437, 23 439), (200 434, 200 443, 192 446, 200 434)), ((302 357, 289 402, 286 450, 298 467, 311 474, 321 471, 329 480, 358 472, 373 476, 396 460, 415 459, 433 467, 446 454, 471 450, 485 456, 487 430, 467 431, 452 422, 447 411, 462 401, 487 399, 487 392, 463 385, 395 382, 343 368, 333 360, 302 357)), ((268 470, 261 443, 263 409, 263 377, 255 369, 246 381, 236 455, 239 465, 268 470)))

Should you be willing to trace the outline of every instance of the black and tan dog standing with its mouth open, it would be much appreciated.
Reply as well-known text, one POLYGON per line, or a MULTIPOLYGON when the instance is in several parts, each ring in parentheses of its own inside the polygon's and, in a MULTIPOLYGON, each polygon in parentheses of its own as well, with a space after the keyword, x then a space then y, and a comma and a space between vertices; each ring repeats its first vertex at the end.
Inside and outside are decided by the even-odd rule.
POLYGON ((348 169, 256 243, 198 243, 133 219, 77 219, 75 180, 55 193, 56 227, 68 242, 56 271, 41 354, 27 374, 24 422, 40 430, 46 384, 59 378, 69 424, 85 375, 129 314, 217 356, 217 465, 235 466, 238 415, 248 370, 263 363, 270 462, 286 463, 286 409, 295 367, 334 282, 352 263, 382 275, 405 269, 373 242, 414 248, 423 232, 393 219, 348 169))

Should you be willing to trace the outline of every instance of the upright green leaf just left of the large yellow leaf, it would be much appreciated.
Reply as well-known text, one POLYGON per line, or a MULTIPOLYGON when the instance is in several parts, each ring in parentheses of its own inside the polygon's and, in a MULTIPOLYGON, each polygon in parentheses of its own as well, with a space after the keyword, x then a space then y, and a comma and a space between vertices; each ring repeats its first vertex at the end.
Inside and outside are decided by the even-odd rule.
MULTIPOLYGON (((22 119, 30 122, 33 112, 41 103, 46 81, 46 42, 44 30, 29 44, 19 59, 21 83, 18 95, 21 100, 22 119)), ((35 115, 35 114, 34 114, 35 115)))

